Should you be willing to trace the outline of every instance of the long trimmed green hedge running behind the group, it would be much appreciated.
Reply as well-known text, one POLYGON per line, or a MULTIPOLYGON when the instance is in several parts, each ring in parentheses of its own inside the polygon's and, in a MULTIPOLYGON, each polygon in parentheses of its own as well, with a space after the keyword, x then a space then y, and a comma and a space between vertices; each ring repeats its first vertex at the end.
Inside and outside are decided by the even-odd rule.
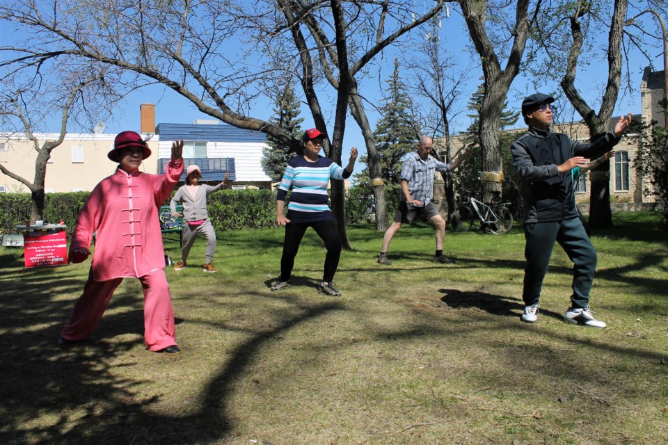
MULTIPOLYGON (((45 223, 65 220, 67 234, 71 234, 77 216, 84 207, 89 192, 47 193, 45 223)), ((276 227, 276 192, 271 190, 221 190, 207 198, 209 217, 216 232, 237 229, 264 229, 276 227)), ((388 187, 388 213, 394 215, 399 202, 399 187, 388 187)), ((0 233, 16 233, 17 225, 30 219, 29 193, 0 193, 0 233)), ((169 204, 169 200, 165 204, 169 204)), ((346 200, 347 224, 369 218, 367 210, 372 195, 361 188, 351 188, 346 200)))

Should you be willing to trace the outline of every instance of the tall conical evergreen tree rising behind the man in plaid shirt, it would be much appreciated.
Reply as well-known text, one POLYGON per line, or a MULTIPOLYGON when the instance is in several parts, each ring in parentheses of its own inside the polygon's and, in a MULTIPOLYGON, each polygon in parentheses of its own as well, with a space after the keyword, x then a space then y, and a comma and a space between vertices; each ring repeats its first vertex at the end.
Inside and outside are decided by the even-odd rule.
MULTIPOLYGON (((387 184, 399 184, 401 181, 401 159, 411 152, 417 140, 417 124, 411 112, 411 98, 406 93, 408 87, 399 76, 399 61, 395 59, 395 70, 387 81, 388 88, 382 99, 381 119, 376 122, 374 140, 381 159, 381 175, 387 184)), ((366 156, 360 161, 366 163, 366 156)), ((365 168, 356 175, 360 186, 369 186, 369 169, 365 168)))

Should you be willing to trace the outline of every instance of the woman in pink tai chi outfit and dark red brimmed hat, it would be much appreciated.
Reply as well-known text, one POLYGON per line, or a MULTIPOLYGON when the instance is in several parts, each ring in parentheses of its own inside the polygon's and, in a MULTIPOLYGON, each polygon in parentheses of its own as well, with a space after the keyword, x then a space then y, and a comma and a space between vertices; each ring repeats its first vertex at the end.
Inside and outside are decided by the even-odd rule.
POLYGON ((95 253, 84 293, 74 305, 70 323, 58 345, 86 339, 100 322, 118 285, 136 277, 144 291, 144 341, 148 350, 177 355, 174 312, 165 276, 165 257, 158 209, 183 173, 183 141, 172 144, 164 175, 139 171, 151 150, 134 131, 116 136, 107 154, 118 162, 116 172, 100 181, 84 204, 70 244, 70 261, 81 263, 90 255, 97 231, 95 253))

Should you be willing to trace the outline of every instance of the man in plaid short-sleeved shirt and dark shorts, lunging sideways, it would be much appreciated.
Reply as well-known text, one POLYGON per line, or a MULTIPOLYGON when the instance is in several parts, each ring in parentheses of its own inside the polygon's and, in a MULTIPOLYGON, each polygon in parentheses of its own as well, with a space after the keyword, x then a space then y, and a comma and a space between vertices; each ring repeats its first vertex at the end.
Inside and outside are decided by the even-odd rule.
POLYGON ((429 156, 434 147, 434 141, 422 135, 417 143, 417 152, 408 155, 401 168, 401 199, 399 209, 395 213, 395 220, 383 236, 383 248, 378 257, 380 264, 392 264, 388 258, 388 248, 392 237, 404 223, 411 224, 416 217, 429 221, 436 229, 436 254, 434 263, 452 264, 454 260, 443 254, 443 238, 445 238, 445 220, 440 216, 433 202, 434 197, 434 173, 452 172, 471 154, 468 149, 450 164, 436 161, 429 156))

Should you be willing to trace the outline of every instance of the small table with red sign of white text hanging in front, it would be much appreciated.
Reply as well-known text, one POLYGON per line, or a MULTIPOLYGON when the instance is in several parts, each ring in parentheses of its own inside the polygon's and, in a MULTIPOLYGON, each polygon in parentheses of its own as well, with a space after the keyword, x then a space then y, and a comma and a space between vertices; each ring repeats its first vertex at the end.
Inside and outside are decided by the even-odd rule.
POLYGON ((26 268, 67 264, 67 225, 17 225, 16 228, 23 232, 26 268))

